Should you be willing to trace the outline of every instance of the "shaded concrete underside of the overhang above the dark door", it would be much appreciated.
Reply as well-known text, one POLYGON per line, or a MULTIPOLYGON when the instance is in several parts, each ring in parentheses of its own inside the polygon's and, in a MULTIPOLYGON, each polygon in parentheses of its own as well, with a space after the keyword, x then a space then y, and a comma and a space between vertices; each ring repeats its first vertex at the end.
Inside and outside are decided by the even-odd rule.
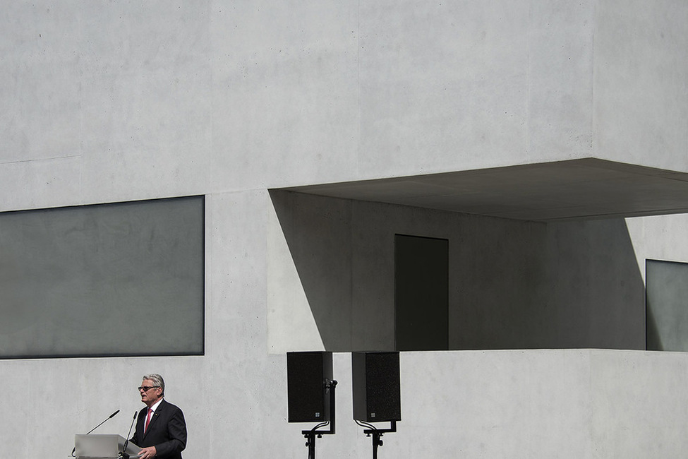
POLYGON ((538 222, 688 213, 687 173, 596 158, 284 190, 538 222))

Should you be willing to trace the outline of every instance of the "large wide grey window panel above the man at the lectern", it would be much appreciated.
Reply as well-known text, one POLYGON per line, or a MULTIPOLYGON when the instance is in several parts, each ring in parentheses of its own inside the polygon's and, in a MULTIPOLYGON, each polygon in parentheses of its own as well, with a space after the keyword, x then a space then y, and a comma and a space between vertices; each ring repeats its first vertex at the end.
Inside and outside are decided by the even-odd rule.
POLYGON ((0 213, 0 358, 199 355, 205 197, 0 213))

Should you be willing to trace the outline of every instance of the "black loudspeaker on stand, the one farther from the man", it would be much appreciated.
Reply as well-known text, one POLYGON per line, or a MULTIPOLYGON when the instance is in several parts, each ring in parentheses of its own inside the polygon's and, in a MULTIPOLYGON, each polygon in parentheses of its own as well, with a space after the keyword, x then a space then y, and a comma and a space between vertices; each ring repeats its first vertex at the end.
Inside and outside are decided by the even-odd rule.
POLYGON ((399 352, 352 352, 354 419, 365 422, 402 420, 399 352))

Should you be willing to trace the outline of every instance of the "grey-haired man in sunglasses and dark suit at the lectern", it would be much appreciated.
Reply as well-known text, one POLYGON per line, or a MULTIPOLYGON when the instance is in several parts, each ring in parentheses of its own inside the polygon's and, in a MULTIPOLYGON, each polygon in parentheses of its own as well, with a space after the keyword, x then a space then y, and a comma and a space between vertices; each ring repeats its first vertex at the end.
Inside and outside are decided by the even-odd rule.
POLYGON ((138 457, 150 459, 181 459, 186 448, 186 421, 179 407, 167 403, 165 381, 159 374, 143 376, 138 388, 146 407, 138 413, 132 443, 140 446, 138 457))

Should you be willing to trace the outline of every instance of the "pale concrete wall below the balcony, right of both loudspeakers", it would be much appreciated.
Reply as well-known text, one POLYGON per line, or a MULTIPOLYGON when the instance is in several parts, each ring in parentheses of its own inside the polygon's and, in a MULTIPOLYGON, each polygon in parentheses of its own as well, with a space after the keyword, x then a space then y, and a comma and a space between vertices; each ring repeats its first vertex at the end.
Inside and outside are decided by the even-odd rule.
POLYGON ((680 457, 685 363, 682 353, 591 350, 402 354, 404 433, 380 455, 680 457))

